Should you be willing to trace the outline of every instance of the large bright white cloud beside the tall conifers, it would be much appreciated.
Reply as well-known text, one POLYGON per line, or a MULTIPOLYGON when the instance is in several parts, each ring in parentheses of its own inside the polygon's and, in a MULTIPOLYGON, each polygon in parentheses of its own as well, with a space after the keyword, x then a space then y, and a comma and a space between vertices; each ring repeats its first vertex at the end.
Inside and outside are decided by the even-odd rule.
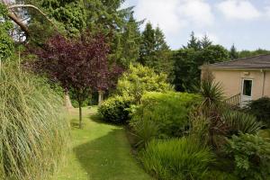
POLYGON ((210 4, 204 0, 138 0, 136 17, 154 23, 166 37, 189 25, 205 27, 214 22, 210 4))

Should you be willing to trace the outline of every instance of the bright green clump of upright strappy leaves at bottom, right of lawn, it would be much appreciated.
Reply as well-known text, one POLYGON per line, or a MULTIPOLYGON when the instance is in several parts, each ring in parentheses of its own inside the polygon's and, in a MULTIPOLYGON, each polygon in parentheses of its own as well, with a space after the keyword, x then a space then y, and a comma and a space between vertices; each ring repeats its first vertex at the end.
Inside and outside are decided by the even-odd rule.
POLYGON ((210 148, 189 138, 154 139, 139 156, 148 173, 164 180, 202 179, 214 159, 210 148))

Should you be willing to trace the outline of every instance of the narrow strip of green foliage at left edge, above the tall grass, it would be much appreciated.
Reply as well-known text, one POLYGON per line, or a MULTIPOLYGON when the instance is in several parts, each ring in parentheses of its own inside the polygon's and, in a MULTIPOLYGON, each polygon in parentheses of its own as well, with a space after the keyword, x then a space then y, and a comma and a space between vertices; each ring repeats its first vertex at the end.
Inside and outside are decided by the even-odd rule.
POLYGON ((4 4, 0 4, 0 59, 8 58, 14 50, 14 41, 9 35, 9 31, 13 28, 7 18, 7 9, 4 4))

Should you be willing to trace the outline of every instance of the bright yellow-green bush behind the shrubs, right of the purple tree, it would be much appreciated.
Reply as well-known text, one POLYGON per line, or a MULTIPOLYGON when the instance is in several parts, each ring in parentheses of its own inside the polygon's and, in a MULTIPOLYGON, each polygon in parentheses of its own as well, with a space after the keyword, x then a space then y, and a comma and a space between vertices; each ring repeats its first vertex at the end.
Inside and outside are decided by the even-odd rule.
POLYGON ((153 69, 141 65, 130 65, 118 81, 118 94, 130 96, 138 103, 143 94, 149 91, 167 92, 172 89, 166 83, 166 75, 157 75, 153 69))

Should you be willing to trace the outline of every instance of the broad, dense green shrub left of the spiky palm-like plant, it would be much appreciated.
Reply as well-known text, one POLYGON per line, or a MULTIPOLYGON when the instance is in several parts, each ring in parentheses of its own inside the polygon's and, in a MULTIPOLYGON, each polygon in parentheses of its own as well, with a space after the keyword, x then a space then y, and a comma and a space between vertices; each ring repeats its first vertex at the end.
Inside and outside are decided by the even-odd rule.
POLYGON ((189 127, 188 115, 193 105, 200 99, 199 95, 186 93, 144 94, 130 125, 134 127, 136 123, 153 121, 158 126, 159 138, 180 137, 189 127))

